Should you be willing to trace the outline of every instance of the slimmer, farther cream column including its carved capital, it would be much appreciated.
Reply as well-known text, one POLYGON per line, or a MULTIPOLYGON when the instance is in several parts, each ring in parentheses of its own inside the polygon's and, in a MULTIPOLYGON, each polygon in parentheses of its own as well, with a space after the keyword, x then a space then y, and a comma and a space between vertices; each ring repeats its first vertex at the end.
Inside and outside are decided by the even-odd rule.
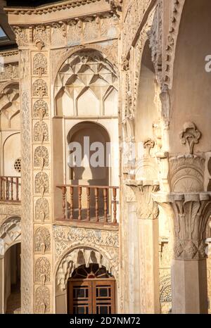
POLYGON ((130 181, 136 194, 139 236, 139 279, 141 313, 160 313, 158 205, 151 193, 159 189, 155 181, 130 181))

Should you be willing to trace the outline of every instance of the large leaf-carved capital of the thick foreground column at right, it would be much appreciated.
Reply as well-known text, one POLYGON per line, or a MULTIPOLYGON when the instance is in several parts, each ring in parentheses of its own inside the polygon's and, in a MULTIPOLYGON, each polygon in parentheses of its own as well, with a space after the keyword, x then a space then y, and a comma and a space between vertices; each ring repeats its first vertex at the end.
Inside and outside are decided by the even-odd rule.
POLYGON ((205 253, 205 232, 211 214, 211 193, 156 193, 153 200, 165 209, 174 227, 174 258, 201 260, 205 253))

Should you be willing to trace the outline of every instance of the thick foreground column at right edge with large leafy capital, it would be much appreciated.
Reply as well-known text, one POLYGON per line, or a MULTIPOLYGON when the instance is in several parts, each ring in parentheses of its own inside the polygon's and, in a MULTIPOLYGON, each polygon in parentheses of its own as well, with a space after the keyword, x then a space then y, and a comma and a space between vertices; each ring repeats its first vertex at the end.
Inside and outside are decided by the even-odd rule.
POLYGON ((208 313, 205 230, 211 193, 153 195, 172 219, 172 313, 208 313))

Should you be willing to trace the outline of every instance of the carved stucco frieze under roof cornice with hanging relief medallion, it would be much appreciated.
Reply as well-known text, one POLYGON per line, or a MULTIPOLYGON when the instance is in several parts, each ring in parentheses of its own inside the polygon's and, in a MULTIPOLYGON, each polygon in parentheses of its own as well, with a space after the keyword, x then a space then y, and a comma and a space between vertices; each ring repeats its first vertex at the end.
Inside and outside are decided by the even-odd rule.
POLYGON ((60 48, 77 46, 90 41, 103 42, 107 39, 117 39, 119 34, 119 17, 115 11, 96 13, 79 18, 71 18, 59 23, 47 25, 15 26, 18 46, 34 44, 39 53, 34 57, 33 72, 38 75, 46 74, 46 59, 41 51, 45 46, 60 48))

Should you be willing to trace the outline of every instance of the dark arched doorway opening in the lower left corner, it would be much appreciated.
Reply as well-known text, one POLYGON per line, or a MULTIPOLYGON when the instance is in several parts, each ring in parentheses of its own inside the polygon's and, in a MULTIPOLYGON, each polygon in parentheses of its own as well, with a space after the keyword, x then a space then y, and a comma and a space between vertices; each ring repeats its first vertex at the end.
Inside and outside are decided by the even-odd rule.
POLYGON ((20 243, 8 248, 4 256, 5 313, 20 312, 20 243))

